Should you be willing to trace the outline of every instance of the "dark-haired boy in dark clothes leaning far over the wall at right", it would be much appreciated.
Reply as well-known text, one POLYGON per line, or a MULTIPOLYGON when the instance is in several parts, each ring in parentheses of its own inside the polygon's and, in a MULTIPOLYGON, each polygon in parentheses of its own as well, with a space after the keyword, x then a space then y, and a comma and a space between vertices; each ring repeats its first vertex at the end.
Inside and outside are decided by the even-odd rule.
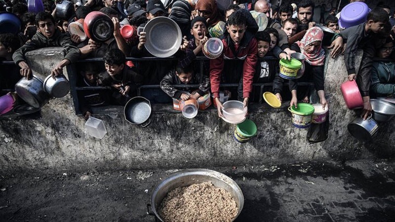
POLYGON ((356 83, 363 100, 363 111, 361 116, 366 119, 372 112, 370 105, 369 87, 370 71, 372 69, 372 57, 376 54, 376 48, 379 48, 379 32, 388 22, 387 12, 382 8, 375 8, 367 15, 366 22, 357 26, 350 27, 340 32, 344 39, 347 39, 346 49, 344 52, 344 61, 346 63, 348 79, 352 81, 356 78, 355 55, 357 49, 363 50, 361 65, 359 67, 358 78, 356 83))

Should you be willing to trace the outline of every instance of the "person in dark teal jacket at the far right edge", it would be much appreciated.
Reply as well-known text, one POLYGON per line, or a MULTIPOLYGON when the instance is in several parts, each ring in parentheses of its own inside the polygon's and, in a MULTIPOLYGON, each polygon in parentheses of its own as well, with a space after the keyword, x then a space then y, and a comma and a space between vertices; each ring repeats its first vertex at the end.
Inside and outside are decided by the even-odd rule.
POLYGON ((373 63, 370 92, 372 97, 395 96, 395 63, 390 58, 394 51, 391 37, 386 39, 382 48, 377 50, 377 59, 373 63))

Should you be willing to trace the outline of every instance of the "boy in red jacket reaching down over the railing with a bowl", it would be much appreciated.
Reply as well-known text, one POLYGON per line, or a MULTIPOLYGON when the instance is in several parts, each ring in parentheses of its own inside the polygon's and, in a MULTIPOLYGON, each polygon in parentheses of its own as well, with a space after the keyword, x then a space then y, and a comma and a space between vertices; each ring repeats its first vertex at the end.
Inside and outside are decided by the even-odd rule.
MULTIPOLYGON (((248 27, 249 30, 247 31, 247 23, 250 25, 250 18, 247 17, 248 14, 250 15, 246 10, 239 9, 229 16, 224 39, 222 39, 222 43, 224 44, 222 55, 210 61, 211 92, 217 103, 218 115, 220 117, 223 116, 221 111, 223 106, 219 100, 219 85, 221 79, 223 82, 226 82, 227 80, 224 81, 224 78, 235 78, 236 74, 233 73, 233 76, 224 75, 226 74, 223 72, 224 58, 241 60, 241 63, 238 64, 242 66, 242 75, 239 77, 236 76, 238 77, 236 80, 239 82, 238 98, 239 100, 243 100, 244 107, 248 105, 248 100, 252 91, 252 79, 255 74, 258 52, 254 31, 256 32, 258 29, 255 23, 256 27, 248 27), (252 32, 250 32, 250 30, 252 32)), ((253 26, 253 23, 251 23, 250 26, 253 26)), ((237 63, 237 61, 232 61, 232 63, 237 63)))

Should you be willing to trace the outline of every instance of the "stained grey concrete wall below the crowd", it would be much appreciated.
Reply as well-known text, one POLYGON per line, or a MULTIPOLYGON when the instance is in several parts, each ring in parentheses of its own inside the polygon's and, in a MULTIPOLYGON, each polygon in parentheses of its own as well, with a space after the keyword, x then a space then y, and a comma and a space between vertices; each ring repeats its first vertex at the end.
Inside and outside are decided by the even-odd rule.
MULTIPOLYGON (((46 76, 50 70, 46 67, 53 67, 61 54, 54 49, 33 52, 28 62, 34 72, 46 76)), ((75 115, 69 94, 51 100, 39 116, 0 118, 0 169, 58 172, 207 168, 393 157, 394 120, 380 124, 374 142, 356 141, 347 124, 357 114, 346 108, 339 87, 347 76, 343 57, 328 59, 325 69, 330 129, 329 138, 321 143, 309 144, 307 130, 291 125, 288 103, 281 109, 267 104, 251 106, 249 118, 257 124, 258 135, 247 144, 233 139, 236 125, 219 119, 214 109, 186 119, 170 111, 170 106, 155 106, 152 123, 146 128, 124 120, 121 108, 95 115, 105 122, 108 131, 99 140, 86 134, 85 121, 75 115)))

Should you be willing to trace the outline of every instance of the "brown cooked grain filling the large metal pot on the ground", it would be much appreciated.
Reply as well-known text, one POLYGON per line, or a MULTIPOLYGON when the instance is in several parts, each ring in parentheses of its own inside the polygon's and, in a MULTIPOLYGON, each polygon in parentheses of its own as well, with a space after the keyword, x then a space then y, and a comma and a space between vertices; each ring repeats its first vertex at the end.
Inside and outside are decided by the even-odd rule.
POLYGON ((228 191, 205 182, 171 190, 158 213, 164 222, 232 222, 237 210, 228 191))

